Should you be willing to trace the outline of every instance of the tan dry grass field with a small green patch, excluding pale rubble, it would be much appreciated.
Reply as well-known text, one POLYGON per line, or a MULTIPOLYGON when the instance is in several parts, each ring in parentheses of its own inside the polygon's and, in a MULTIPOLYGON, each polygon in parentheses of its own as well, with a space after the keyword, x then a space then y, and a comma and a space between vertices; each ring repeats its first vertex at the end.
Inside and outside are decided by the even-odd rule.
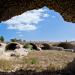
POLYGON ((61 70, 72 62, 75 53, 65 51, 32 51, 23 58, 14 58, 12 60, 0 60, 0 69, 11 71, 16 69, 26 70, 61 70))

